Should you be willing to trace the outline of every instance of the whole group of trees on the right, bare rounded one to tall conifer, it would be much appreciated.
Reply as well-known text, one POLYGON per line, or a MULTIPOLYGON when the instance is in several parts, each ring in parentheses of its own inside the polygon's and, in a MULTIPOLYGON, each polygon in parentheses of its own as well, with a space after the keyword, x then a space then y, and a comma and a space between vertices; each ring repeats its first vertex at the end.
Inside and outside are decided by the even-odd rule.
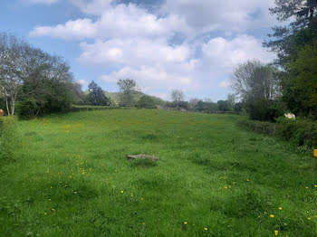
POLYGON ((251 119, 274 121, 284 112, 317 119, 317 0, 276 0, 270 9, 280 22, 264 46, 277 54, 269 64, 238 65, 232 89, 251 119))

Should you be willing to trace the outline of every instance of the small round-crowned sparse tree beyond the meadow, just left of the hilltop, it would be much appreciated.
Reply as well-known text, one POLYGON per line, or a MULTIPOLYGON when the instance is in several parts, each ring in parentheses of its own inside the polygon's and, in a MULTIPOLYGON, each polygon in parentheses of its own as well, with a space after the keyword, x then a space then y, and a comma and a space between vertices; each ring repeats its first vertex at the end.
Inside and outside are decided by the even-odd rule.
POLYGON ((119 80, 117 85, 120 88, 120 103, 131 107, 135 103, 135 96, 140 91, 137 82, 130 79, 119 80))

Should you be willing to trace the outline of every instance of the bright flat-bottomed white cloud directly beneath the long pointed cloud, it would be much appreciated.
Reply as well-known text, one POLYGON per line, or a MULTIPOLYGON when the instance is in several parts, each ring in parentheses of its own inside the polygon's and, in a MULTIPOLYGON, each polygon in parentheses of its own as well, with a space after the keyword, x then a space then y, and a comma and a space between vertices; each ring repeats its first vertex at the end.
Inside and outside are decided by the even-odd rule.
POLYGON ((80 62, 95 65, 162 65, 186 62, 190 56, 188 45, 168 46, 165 41, 147 38, 97 40, 81 43, 80 62))

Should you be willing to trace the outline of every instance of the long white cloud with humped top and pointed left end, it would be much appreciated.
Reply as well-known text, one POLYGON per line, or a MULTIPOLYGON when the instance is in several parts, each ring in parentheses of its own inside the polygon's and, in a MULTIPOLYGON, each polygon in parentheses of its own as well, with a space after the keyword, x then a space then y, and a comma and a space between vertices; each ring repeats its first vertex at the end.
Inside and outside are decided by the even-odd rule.
POLYGON ((116 5, 106 8, 95 22, 85 18, 56 26, 37 26, 30 35, 53 36, 62 39, 109 39, 136 36, 170 37, 178 31, 187 32, 189 29, 185 20, 177 15, 169 14, 159 18, 137 5, 116 5))

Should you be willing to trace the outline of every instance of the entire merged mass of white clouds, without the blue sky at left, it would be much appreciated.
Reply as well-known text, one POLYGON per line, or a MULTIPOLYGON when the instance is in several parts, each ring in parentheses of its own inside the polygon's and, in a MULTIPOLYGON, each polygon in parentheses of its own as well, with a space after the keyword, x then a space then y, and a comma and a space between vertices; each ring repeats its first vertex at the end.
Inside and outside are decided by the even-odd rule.
POLYGON ((241 0, 238 5, 234 0, 166 0, 159 12, 112 0, 69 1, 86 16, 36 26, 30 35, 80 41, 78 62, 110 68, 101 76, 106 83, 134 79, 160 97, 175 88, 197 94, 226 91, 235 65, 274 58, 261 40, 245 33, 274 24, 268 14, 274 0, 241 0), (201 40, 202 33, 213 32, 222 34, 201 40), (178 36, 182 40, 175 40, 178 36))

